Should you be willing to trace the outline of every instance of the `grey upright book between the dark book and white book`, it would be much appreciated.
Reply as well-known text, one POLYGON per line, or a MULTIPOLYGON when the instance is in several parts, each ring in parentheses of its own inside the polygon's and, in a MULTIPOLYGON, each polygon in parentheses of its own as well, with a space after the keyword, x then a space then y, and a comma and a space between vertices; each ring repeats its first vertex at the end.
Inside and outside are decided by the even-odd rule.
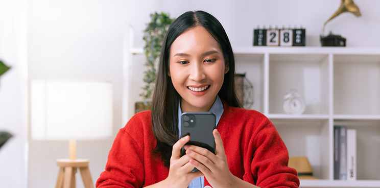
POLYGON ((340 139, 339 139, 339 147, 340 147, 340 168, 339 168, 339 179, 346 180, 347 179, 347 158, 346 158, 346 149, 347 149, 347 127, 340 126, 340 139))

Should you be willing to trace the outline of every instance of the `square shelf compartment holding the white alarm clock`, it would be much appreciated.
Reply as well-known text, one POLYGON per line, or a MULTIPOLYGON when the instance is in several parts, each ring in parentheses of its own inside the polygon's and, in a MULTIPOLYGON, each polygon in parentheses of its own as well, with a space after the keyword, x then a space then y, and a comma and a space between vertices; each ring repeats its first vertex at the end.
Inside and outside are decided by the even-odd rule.
POLYGON ((296 89, 306 103, 304 114, 329 114, 328 54, 269 55, 269 113, 283 113, 286 92, 296 89))

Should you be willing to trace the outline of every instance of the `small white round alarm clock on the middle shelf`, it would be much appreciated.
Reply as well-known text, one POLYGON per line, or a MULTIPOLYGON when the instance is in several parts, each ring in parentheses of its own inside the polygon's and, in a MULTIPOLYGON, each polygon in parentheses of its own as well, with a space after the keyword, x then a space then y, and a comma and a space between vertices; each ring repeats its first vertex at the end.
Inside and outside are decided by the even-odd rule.
POLYGON ((289 90, 283 97, 282 110, 287 114, 302 114, 305 111, 306 104, 297 90, 289 90))

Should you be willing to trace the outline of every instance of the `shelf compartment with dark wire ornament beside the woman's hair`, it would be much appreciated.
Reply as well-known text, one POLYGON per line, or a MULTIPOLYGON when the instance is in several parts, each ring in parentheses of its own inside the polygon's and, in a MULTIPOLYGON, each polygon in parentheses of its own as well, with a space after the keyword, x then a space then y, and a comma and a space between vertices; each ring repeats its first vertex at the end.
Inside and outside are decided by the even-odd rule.
POLYGON ((245 73, 253 85, 250 109, 264 113, 264 54, 235 54, 235 62, 235 73, 245 73))

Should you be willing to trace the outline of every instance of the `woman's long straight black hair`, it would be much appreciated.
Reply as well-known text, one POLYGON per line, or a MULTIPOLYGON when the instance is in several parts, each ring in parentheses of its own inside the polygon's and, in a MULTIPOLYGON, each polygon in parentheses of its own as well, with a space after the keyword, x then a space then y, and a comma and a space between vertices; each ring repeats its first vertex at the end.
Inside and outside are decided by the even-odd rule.
POLYGON ((204 11, 183 13, 173 21, 164 38, 152 100, 152 129, 157 140, 153 154, 161 156, 162 163, 167 168, 170 166, 172 147, 179 139, 178 103, 181 99, 168 76, 170 48, 179 35, 197 26, 205 28, 219 43, 225 65, 229 67, 229 71, 224 74, 224 82, 218 92, 219 97, 229 106, 241 107, 234 89, 235 59, 223 26, 217 18, 204 11))

